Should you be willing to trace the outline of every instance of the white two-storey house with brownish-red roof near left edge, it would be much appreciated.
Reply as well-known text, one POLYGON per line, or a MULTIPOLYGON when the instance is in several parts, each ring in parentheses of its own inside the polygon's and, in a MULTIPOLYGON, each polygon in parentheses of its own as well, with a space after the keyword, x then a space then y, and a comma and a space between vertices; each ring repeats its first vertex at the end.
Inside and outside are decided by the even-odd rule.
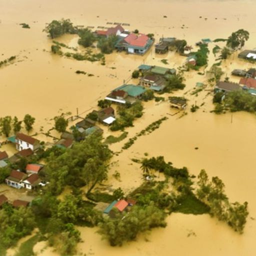
POLYGON ((32 151, 35 151, 40 147, 39 140, 28 136, 24 133, 18 132, 15 137, 16 149, 22 150, 30 148, 32 151))

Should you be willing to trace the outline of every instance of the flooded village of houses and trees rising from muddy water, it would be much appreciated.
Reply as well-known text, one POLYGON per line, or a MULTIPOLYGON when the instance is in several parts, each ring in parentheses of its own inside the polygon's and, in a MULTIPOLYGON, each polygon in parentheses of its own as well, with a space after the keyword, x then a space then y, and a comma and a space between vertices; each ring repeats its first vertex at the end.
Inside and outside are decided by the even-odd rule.
MULTIPOLYGON (((28 24, 22 27, 29 29, 28 24)), ((255 112, 256 49, 246 49, 249 32, 239 29, 226 38, 199 38, 191 45, 185 38, 172 37, 175 35, 156 40, 153 33, 128 28, 128 23, 114 22, 85 28, 69 19, 46 24, 43 33, 52 44, 45 54, 104 66, 106 55, 125 52, 141 57, 141 64, 127 71, 128 79, 122 84, 113 84, 93 109, 61 113, 52 118, 54 126, 47 131, 35 130, 36 119, 29 113, 24 113, 22 120, 16 116, 0 118, 0 255, 31 233, 18 248, 18 255, 24 255, 22 249, 32 251, 40 241, 47 241, 47 246, 61 255, 76 255, 81 242, 77 226, 97 226, 97 232, 111 246, 121 246, 147 230, 164 228, 165 218, 172 212, 209 214, 242 235, 248 203, 229 201, 221 177, 208 176, 207 170, 194 176, 163 156, 148 156, 146 147, 153 145, 145 145, 144 157, 131 159, 141 171, 134 189, 111 189, 106 180, 113 155, 118 157, 168 117, 182 118, 202 108, 204 103, 197 100, 201 92, 212 100, 212 114, 255 112), (84 51, 58 41, 64 34, 78 35, 84 51), (159 56, 174 51, 183 62, 175 68, 165 58, 160 65, 144 63, 142 57, 150 51, 159 56), (236 66, 224 73, 221 61, 231 57, 251 63, 251 67, 236 66), (185 75, 190 72, 202 79, 187 91, 185 75), (136 127, 151 101, 167 104, 168 111, 128 137, 127 127, 136 127), (115 143, 122 143, 119 151, 110 150, 115 143), (12 147, 12 155, 4 150, 6 146, 12 147)), ((0 68, 15 61, 16 56, 9 56, 0 62, 0 68)), ((93 76, 86 70, 75 73, 93 76)), ((112 177, 117 181, 122 178, 118 169, 112 177)))

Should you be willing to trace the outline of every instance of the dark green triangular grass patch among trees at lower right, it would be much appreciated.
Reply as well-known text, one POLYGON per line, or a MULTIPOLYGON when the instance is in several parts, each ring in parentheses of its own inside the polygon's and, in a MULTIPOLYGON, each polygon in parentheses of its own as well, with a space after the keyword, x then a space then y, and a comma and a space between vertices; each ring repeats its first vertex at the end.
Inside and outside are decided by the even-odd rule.
POLYGON ((177 202, 174 212, 198 215, 208 213, 210 210, 209 206, 198 200, 193 193, 188 193, 177 202))

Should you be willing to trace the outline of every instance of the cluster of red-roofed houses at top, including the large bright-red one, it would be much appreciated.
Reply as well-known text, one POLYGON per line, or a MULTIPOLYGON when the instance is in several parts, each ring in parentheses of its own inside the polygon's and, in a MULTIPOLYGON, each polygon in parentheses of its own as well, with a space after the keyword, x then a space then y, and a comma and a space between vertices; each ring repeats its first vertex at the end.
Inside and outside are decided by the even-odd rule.
POLYGON ((153 44, 154 39, 149 38, 143 33, 133 33, 125 30, 120 24, 115 27, 109 27, 106 30, 96 30, 98 36, 108 37, 115 35, 118 40, 115 48, 118 51, 125 50, 127 53, 143 55, 153 44))

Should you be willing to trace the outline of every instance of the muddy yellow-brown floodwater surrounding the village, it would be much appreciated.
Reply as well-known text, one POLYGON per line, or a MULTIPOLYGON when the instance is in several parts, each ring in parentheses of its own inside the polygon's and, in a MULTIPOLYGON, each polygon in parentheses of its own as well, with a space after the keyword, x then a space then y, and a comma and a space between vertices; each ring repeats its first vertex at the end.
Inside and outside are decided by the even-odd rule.
MULTIPOLYGON (((84 115, 86 110, 96 107, 96 101, 127 80, 139 64, 164 65, 160 60, 165 58, 169 63, 166 66, 178 67, 185 61, 185 57, 173 52, 155 55, 153 51, 144 56, 113 53, 106 56, 105 66, 55 56, 50 53, 51 40, 42 32, 45 23, 52 19, 70 18, 76 25, 95 28, 110 26, 106 22, 129 23, 130 26, 125 28, 152 32, 156 40, 162 35, 175 36, 185 38, 190 45, 201 38, 226 38, 232 31, 244 28, 250 32, 246 48, 254 48, 255 7, 256 2, 249 0, 0 0, 0 60, 17 55, 17 61, 0 68, 0 116, 22 118, 30 113, 36 118, 34 132, 39 132, 41 126, 46 131, 53 126, 55 115, 62 112, 74 114, 76 108, 84 115), (21 28, 18 24, 22 22, 31 28, 21 28), (75 70, 94 76, 77 75, 75 70)), ((77 46, 75 35, 65 35, 57 40, 77 46)), ((214 43, 209 45, 210 50, 213 46, 214 43)), ((211 52, 206 70, 214 62, 217 61, 211 52)), ((223 61, 221 67, 230 77, 233 68, 248 68, 252 64, 237 60, 234 54, 223 61)), ((182 116, 182 113, 170 115, 175 110, 169 109, 167 102, 146 102, 144 115, 134 122, 134 127, 127 128, 129 133, 125 140, 110 146, 113 151, 120 151, 129 137, 151 122, 163 116, 168 120, 149 135, 140 136, 127 150, 113 156, 107 184, 111 184, 112 189, 121 186, 125 192, 138 186, 142 182, 141 171, 131 158, 143 157, 145 152, 149 156, 163 155, 174 166, 187 166, 195 175, 204 168, 209 176, 217 175, 223 180, 230 201, 248 201, 249 216, 244 233, 238 235, 208 215, 175 213, 167 217, 166 228, 154 229, 146 236, 138 237, 137 241, 117 248, 102 241, 96 228, 79 227, 83 240, 78 244, 79 253, 96 256, 255 254, 256 118, 243 112, 210 113, 213 105, 212 95, 208 94, 209 85, 198 96, 191 95, 195 83, 204 82, 207 77, 195 71, 185 73, 185 77, 186 88, 175 95, 185 93, 189 105, 195 102, 203 105, 195 113, 191 113, 188 106, 187 114, 182 116), (112 176, 115 170, 120 172, 121 181, 112 176)), ((238 78, 230 77, 230 80, 237 81, 238 78)), ((8 152, 12 150, 10 145, 3 148, 8 152)), ((44 243, 35 246, 37 255, 56 254, 49 248, 43 249, 44 246, 44 243)))

